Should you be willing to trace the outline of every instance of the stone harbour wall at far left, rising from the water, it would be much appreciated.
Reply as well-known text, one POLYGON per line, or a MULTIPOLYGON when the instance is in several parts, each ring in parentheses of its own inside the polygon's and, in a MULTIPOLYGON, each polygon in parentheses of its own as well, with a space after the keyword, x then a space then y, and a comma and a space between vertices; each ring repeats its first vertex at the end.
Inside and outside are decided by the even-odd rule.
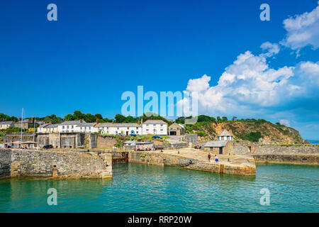
MULTIPOLYGON (((10 150, 9 177, 53 177, 62 179, 112 177, 111 154, 10 150)), ((8 158, 0 150, 0 160, 8 158)), ((2 165, 1 165, 2 166, 2 165)))

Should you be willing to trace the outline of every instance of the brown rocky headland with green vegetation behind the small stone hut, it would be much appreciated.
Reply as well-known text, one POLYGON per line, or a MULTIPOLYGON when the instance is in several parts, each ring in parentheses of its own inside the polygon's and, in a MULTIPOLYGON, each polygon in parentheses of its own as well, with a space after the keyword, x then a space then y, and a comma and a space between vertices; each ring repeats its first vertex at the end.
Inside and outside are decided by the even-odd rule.
POLYGON ((217 135, 226 129, 234 135, 235 140, 247 140, 249 133, 260 132, 262 137, 259 138, 259 142, 261 143, 308 143, 295 129, 274 125, 268 121, 208 123, 201 128, 208 133, 209 140, 217 140, 217 135))

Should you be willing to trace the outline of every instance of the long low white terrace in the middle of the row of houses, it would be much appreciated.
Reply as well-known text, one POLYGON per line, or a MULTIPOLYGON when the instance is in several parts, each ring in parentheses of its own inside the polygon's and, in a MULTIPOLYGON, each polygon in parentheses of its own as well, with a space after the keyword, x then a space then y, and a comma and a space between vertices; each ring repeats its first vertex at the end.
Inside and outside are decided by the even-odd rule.
POLYGON ((99 123, 96 128, 103 134, 142 135, 142 126, 138 123, 99 123))

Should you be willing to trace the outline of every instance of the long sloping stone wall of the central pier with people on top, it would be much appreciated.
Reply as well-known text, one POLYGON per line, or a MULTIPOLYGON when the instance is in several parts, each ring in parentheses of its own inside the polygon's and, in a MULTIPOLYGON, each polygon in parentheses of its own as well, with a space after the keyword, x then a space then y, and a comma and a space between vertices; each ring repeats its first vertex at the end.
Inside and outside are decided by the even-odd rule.
POLYGON ((216 172, 220 174, 230 175, 256 175, 256 167, 253 163, 251 166, 246 165, 226 165, 215 162, 205 162, 202 160, 191 159, 192 164, 189 164, 189 157, 181 155, 173 155, 167 153, 154 152, 129 152, 128 162, 142 163, 147 165, 167 165, 173 167, 183 167, 189 170, 201 170, 207 172, 216 172))

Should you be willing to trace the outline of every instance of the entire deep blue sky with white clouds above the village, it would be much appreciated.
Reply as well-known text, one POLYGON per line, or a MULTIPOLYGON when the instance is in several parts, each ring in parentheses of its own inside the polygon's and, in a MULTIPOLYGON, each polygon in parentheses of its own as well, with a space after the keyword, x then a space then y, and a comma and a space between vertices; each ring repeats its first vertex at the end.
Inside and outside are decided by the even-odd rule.
POLYGON ((138 85, 159 93, 198 90, 195 82, 206 86, 198 90, 200 114, 281 121, 303 138, 319 139, 317 6, 291 0, 1 1, 0 113, 20 116, 23 107, 26 116, 81 110, 113 118, 121 113, 121 94, 137 92, 138 85), (57 5, 57 21, 47 21, 50 3, 57 5), (270 21, 259 19, 263 3, 270 6, 270 21), (285 27, 285 19, 297 15, 293 26, 311 11, 315 22, 308 30, 291 28, 289 21, 285 27), (312 36, 286 39, 301 30, 312 36), (271 46, 262 50, 266 42, 271 46), (279 52, 261 55, 274 45, 279 52), (250 62, 238 66, 240 56, 250 62), (286 82, 274 92, 257 89, 257 98, 240 96, 240 88, 256 84, 238 79, 245 74, 238 67, 259 67, 251 64, 255 60, 266 60, 260 77, 277 72, 282 75, 276 82, 286 82), (220 87, 222 75, 230 74, 237 80, 220 87), (310 87, 303 84, 309 80, 310 87), (210 103, 217 94, 223 99, 210 103), (276 101, 264 101, 263 95, 276 101))

